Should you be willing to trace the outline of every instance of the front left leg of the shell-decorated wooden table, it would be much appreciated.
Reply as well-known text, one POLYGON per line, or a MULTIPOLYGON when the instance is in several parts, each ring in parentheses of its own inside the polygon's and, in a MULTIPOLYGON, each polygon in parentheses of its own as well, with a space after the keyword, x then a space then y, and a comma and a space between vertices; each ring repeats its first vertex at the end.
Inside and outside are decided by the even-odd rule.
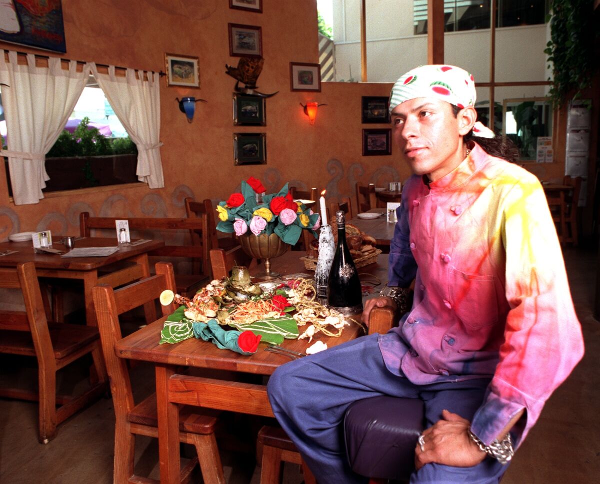
POLYGON ((161 484, 179 484, 179 407, 169 402, 169 377, 173 367, 159 365, 156 371, 158 458, 161 484))

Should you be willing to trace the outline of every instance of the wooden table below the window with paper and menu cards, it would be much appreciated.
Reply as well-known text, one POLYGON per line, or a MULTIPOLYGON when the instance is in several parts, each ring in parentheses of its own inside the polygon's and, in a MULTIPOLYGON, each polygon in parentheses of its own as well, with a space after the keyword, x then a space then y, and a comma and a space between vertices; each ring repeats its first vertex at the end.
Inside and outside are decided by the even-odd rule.
MULTIPOLYGON (((83 295, 85 300, 85 316, 88 325, 96 325, 94 303, 92 302, 92 288, 98 284, 115 285, 115 282, 125 277, 133 280, 136 277, 150 275, 148 265, 148 252, 162 247, 161 240, 150 240, 137 246, 122 246, 119 250, 107 257, 76 257, 61 258, 56 254, 35 253, 31 241, 2 242, 0 253, 4 250, 17 250, 17 253, 0 256, 0 266, 16 267, 20 262, 33 261, 38 277, 52 277, 56 279, 79 279, 83 281, 83 295), (98 276, 100 268, 106 268, 114 262, 127 261, 133 264, 127 267, 98 276)), ((116 238, 86 237, 76 241, 76 247, 111 247, 116 246, 116 238)), ((67 250, 63 244, 53 243, 53 249, 67 250)), ((148 306, 146 316, 149 320, 156 319, 155 311, 148 306), (154 314, 154 317, 152 317, 154 314)))

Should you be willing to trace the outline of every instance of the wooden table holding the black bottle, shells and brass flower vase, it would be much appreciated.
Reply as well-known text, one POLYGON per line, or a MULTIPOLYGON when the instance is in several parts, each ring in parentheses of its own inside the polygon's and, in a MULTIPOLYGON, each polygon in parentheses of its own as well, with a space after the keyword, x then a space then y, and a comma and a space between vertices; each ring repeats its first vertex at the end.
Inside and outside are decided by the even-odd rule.
MULTIPOLYGON (((298 252, 287 252, 279 258, 272 259, 272 267, 282 274, 305 272, 304 264, 300 261, 299 256, 298 252)), ((388 256, 382 254, 379 256, 377 264, 362 267, 361 273, 379 274, 378 277, 381 279, 381 274, 387 273, 387 262, 388 256)), ((261 265, 251 272, 257 273, 260 270, 262 270, 261 265)), ((308 274, 312 277, 314 273, 308 274)), ((387 281, 387 278, 383 277, 382 283, 385 281, 387 281)), ((190 377, 186 378, 176 374, 176 367, 184 365, 270 375, 275 371, 275 368, 290 361, 290 359, 287 356, 266 352, 264 350, 265 344, 260 344, 258 351, 251 356, 240 355, 229 350, 220 350, 214 344, 196 338, 190 338, 176 344, 158 344, 163 322, 164 318, 161 318, 118 341, 115 345, 115 352, 121 358, 148 361, 155 365, 160 480, 163 484, 174 484, 179 482, 179 410, 177 404, 169 402, 169 386, 182 385, 185 388, 187 384, 193 385, 193 383, 186 383, 186 380, 189 381, 190 377)), ((360 327, 351 324, 344 328, 339 338, 318 333, 314 340, 326 341, 328 346, 331 347, 352 340, 361 334, 360 327)), ((284 340, 281 346, 305 352, 309 345, 307 340, 284 340)), ((222 410, 273 416, 266 395, 266 386, 255 385, 254 387, 258 387, 257 389, 248 390, 241 398, 239 395, 240 385, 240 383, 226 380, 211 380, 211 382, 202 386, 204 395, 202 403, 205 406, 222 410), (224 400, 226 401, 224 402, 224 400)), ((190 396, 190 401, 185 401, 186 404, 200 404, 199 401, 194 400, 193 392, 187 393, 190 396)), ((186 392, 182 391, 182 395, 185 396, 185 394, 186 392)))

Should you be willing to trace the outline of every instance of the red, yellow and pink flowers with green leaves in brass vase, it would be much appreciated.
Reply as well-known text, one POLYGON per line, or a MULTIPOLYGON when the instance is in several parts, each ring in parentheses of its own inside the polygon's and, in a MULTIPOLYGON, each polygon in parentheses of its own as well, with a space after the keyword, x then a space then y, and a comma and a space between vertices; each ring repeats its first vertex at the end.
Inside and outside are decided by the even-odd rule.
POLYGON ((265 192, 263 184, 254 177, 242 182, 241 192, 219 202, 217 230, 236 235, 244 235, 248 230, 256 236, 277 234, 290 245, 298 242, 302 230, 310 230, 316 237, 320 215, 293 201, 287 183, 277 193, 265 192))

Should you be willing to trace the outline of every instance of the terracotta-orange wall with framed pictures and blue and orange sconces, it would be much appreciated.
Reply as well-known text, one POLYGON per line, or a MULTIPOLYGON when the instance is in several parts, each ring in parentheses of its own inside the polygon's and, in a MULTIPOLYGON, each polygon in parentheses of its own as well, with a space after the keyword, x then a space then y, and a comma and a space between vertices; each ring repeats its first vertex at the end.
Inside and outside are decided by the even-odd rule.
MULTIPOLYGON (((296 180, 299 186, 326 187, 333 197, 353 194, 358 180, 405 180, 409 171, 393 150, 391 156, 362 156, 362 128, 383 126, 361 125, 361 96, 387 96, 391 84, 323 83, 320 93, 290 92, 289 62, 318 62, 316 1, 263 4, 259 14, 232 10, 226 0, 63 0, 64 58, 164 71, 166 52, 198 56, 201 89, 166 87, 161 80, 164 189, 92 190, 16 206, 0 170, 0 240, 35 229, 77 234, 80 211, 181 216, 185 196, 223 199, 249 176, 262 179, 269 190, 296 180), (263 92, 279 93, 267 99, 267 125, 260 128, 233 126, 235 80, 224 71, 238 58, 229 56, 229 22, 262 27, 265 65, 258 84, 263 92), (191 124, 175 101, 185 95, 208 101, 197 105, 191 124), (299 106, 310 100, 328 104, 314 126, 299 106), (266 133, 268 163, 235 167, 233 133, 257 131, 266 133)), ((28 51, 1 42, 0 48, 28 51)))

